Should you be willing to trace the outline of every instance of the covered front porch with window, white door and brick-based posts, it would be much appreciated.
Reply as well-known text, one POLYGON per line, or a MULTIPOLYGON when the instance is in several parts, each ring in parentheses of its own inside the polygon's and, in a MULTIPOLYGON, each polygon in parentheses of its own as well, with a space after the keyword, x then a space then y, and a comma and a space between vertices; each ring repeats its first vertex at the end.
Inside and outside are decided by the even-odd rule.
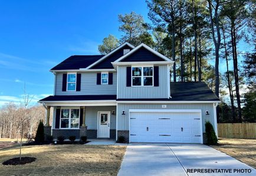
POLYGON ((116 106, 52 106, 54 109, 50 126, 50 107, 47 106, 45 135, 57 140, 59 136, 87 136, 87 139, 109 138, 116 140, 116 106))

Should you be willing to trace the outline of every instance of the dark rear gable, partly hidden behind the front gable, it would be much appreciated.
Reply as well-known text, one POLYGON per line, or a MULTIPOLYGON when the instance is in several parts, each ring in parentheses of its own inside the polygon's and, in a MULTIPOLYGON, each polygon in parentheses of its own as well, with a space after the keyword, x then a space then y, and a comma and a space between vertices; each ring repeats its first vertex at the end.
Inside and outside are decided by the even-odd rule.
POLYGON ((105 57, 103 60, 101 60, 99 63, 96 65, 90 67, 90 69, 113 69, 113 65, 111 62, 114 62, 115 60, 119 59, 120 57, 123 56, 123 50, 124 49, 130 49, 132 50, 133 48, 129 45, 124 45, 121 48, 117 49, 114 53, 111 55, 105 57))

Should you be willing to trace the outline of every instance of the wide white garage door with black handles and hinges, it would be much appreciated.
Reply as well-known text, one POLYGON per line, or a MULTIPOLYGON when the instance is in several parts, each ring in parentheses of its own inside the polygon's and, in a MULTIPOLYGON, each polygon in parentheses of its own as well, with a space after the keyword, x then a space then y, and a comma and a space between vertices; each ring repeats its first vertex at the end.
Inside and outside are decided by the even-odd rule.
POLYGON ((130 111, 130 142, 202 143, 200 112, 130 111))

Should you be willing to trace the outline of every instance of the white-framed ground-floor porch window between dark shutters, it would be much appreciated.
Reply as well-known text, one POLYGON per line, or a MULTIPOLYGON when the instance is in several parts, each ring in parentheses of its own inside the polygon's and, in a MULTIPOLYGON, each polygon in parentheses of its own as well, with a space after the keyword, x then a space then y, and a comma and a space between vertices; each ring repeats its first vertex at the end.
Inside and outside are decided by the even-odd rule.
POLYGON ((79 128, 80 109, 61 109, 60 128, 79 128))

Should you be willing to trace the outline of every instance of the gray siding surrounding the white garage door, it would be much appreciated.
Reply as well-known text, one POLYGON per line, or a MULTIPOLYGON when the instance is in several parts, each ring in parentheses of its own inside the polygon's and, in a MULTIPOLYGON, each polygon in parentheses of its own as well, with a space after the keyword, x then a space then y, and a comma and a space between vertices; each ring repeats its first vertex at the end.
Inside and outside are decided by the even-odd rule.
MULTIPOLYGON (((164 104, 164 103, 163 103, 164 104)), ((205 132, 205 122, 210 121, 212 126, 215 125, 214 121, 214 105, 212 103, 202 104, 166 104, 166 108, 162 108, 162 104, 117 104, 117 130, 129 130, 129 109, 201 109, 202 110, 202 127, 205 132), (209 115, 205 111, 209 111, 209 115), (125 111, 125 115, 122 115, 125 111)))

